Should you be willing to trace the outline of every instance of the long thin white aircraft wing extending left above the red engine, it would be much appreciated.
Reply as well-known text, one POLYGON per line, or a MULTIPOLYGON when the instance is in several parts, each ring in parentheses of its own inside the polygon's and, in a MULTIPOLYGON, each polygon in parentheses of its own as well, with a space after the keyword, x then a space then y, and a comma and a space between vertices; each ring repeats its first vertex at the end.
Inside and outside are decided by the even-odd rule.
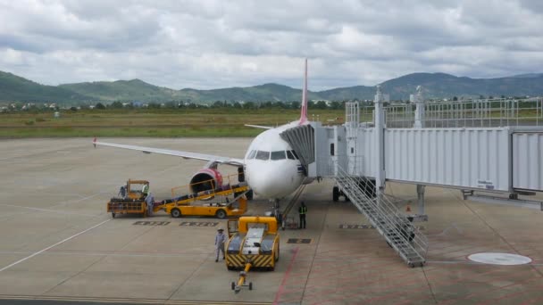
POLYGON ((92 144, 94 144, 95 147, 96 147, 96 145, 102 145, 102 146, 110 146, 110 147, 140 151, 140 152, 145 152, 145 153, 155 152, 155 153, 162 153, 162 154, 167 154, 167 155, 171 155, 171 156, 181 157, 181 158, 184 158, 184 159, 196 159, 196 160, 203 160, 203 161, 213 161, 213 162, 218 162, 218 163, 221 163, 221 164, 228 164, 228 165, 232 165, 232 166, 243 166, 244 165, 243 159, 214 156, 213 154, 205 154, 205 153, 197 153, 197 152, 180 152, 180 151, 173 151, 173 150, 170 150, 170 149, 162 149, 162 148, 153 148, 153 147, 145 147, 145 146, 137 146, 137 145, 126 145, 126 144, 105 143, 105 142, 96 141, 96 138, 92 142, 92 144))

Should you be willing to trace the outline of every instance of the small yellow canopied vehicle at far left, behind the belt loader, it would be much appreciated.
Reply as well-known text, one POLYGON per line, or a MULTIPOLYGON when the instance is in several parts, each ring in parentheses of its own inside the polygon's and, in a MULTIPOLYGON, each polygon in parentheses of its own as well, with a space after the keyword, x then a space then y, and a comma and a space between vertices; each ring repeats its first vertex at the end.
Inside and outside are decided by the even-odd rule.
POLYGON ((142 193, 145 185, 148 187, 149 181, 129 179, 126 185, 121 186, 121 198, 114 197, 107 202, 107 211, 112 213, 113 218, 117 214, 137 214, 145 217, 147 207, 142 193))

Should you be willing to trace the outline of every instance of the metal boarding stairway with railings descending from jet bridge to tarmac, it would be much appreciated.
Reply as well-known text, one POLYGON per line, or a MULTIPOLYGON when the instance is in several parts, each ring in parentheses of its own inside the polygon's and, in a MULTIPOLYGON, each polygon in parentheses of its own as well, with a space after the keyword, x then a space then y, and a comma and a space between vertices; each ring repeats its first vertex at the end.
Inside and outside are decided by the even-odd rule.
POLYGON ((370 220, 388 245, 405 260, 410 267, 422 267, 426 262, 428 239, 422 235, 412 220, 401 213, 385 194, 372 198, 374 185, 366 178, 352 177, 337 166, 336 182, 355 207, 370 220))

